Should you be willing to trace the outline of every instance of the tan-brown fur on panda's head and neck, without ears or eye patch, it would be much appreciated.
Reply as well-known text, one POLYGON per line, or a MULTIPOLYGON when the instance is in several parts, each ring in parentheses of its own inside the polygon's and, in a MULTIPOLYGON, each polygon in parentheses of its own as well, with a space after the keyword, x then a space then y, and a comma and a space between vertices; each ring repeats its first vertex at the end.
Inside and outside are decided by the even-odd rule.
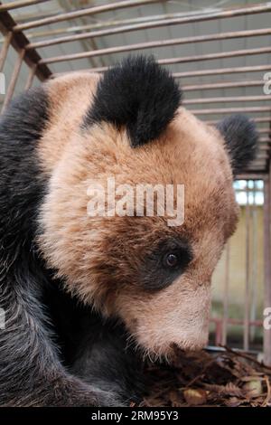
POLYGON ((51 175, 40 218, 43 256, 71 292, 120 316, 147 352, 200 347, 208 335, 211 274, 238 216, 223 139, 182 108, 162 137, 142 147, 130 146, 124 128, 104 123, 82 131, 97 80, 80 74, 48 83, 51 120, 39 146, 51 175), (164 217, 90 218, 89 183, 106 184, 110 175, 117 184, 184 184, 183 225, 168 227, 164 217), (193 260, 168 288, 150 292, 138 270, 167 235, 190 241, 193 260))

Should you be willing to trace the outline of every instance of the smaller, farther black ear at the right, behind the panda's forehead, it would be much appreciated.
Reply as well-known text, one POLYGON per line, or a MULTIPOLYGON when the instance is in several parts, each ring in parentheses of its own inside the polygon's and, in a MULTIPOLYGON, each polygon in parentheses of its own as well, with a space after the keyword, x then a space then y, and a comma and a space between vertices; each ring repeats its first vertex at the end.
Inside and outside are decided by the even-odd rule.
POLYGON ((225 139, 233 174, 244 171, 257 153, 257 129, 244 115, 231 115, 217 125, 225 139))

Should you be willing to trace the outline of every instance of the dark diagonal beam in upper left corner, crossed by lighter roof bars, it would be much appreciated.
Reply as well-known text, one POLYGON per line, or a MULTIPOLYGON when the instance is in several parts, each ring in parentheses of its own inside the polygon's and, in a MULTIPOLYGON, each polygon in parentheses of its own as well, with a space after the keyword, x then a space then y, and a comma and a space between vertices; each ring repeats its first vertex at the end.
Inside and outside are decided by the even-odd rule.
MULTIPOLYGON (((6 33, 13 32, 14 19, 8 12, 0 12, 0 31, 5 35, 6 33)), ((29 40, 26 38, 24 33, 14 33, 11 39, 11 44, 16 52, 24 50, 25 46, 29 44, 29 40)), ((34 63, 38 63, 41 60, 41 56, 35 50, 25 52, 23 61, 32 67, 34 63)), ((40 80, 46 80, 51 75, 51 71, 47 65, 41 64, 37 68, 37 77, 40 80)))

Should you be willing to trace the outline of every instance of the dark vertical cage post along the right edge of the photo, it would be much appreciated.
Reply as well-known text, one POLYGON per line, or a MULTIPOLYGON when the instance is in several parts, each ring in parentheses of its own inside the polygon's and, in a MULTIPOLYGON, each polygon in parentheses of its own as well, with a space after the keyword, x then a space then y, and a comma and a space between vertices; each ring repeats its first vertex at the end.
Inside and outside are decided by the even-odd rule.
MULTIPOLYGON (((264 307, 271 307, 271 166, 269 161, 269 175, 266 176, 264 182, 264 307)), ((271 329, 264 327, 264 361, 271 365, 271 329)))

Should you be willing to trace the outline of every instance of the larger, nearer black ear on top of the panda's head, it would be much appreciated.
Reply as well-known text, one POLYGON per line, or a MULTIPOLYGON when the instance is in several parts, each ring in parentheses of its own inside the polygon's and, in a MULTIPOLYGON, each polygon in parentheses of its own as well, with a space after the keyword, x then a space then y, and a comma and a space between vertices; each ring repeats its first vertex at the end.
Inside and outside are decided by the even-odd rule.
POLYGON ((153 57, 128 57, 99 80, 84 125, 106 121, 126 126, 131 145, 141 146, 160 136, 181 98, 178 84, 153 57))

